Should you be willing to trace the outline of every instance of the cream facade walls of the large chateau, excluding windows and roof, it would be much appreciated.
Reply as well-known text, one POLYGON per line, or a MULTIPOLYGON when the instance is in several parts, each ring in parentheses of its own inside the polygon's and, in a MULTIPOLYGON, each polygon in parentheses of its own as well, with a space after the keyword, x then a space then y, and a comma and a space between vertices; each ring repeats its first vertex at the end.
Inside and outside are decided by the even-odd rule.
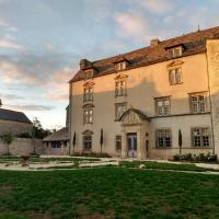
POLYGON ((113 157, 170 159, 180 153, 180 130, 183 138, 182 153, 219 153, 219 41, 215 39, 207 45, 207 53, 205 47, 198 53, 175 59, 103 73, 91 79, 77 78, 71 81, 69 106, 71 153, 84 151, 84 131, 90 131, 92 152, 100 153, 102 150, 113 157), (182 83, 170 84, 169 69, 172 67, 182 69, 182 83), (115 81, 119 78, 126 79, 126 95, 115 96, 115 81), (84 107, 87 107, 84 87, 88 83, 93 87, 93 100, 89 103, 93 108, 93 120, 90 124, 83 120, 84 107), (206 94, 205 112, 196 114, 192 112, 191 94, 194 93, 206 94), (155 100, 165 96, 171 100, 171 113, 166 116, 158 116, 155 100), (120 119, 115 119, 115 106, 118 103, 126 103, 127 111, 120 119), (208 147, 194 147, 192 130, 197 127, 209 129, 208 147), (101 129, 103 129, 102 147, 101 129), (157 130, 159 129, 171 131, 171 147, 158 147, 157 130), (76 145, 73 146, 74 132, 76 145), (122 137, 119 151, 116 150, 116 136, 122 137), (134 146, 135 150, 129 146, 134 146))

